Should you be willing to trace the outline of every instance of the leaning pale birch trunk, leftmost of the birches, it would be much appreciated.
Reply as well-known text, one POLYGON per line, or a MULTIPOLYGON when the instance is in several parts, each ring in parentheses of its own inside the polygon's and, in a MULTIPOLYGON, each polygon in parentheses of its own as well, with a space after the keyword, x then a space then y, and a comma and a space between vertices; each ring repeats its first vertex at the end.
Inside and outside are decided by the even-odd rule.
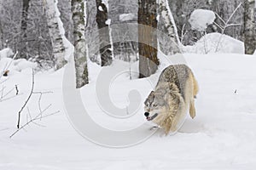
MULTIPOLYGON (((57 8, 58 0, 45 0, 45 13, 47 17, 47 25, 49 28, 49 36, 51 38, 53 53, 55 56, 55 70, 63 67, 67 61, 65 60, 65 46, 63 42, 64 31, 60 29, 60 12, 57 8)), ((61 22, 61 21, 60 21, 61 22)))

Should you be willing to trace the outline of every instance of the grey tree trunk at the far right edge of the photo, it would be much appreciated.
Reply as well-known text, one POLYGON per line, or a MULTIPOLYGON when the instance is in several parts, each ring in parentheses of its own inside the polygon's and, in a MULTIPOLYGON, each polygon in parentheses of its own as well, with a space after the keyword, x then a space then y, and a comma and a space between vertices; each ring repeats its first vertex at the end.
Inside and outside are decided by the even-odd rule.
POLYGON ((253 54, 256 48, 254 8, 255 8, 255 0, 245 0, 245 8, 244 8, 245 54, 253 54))

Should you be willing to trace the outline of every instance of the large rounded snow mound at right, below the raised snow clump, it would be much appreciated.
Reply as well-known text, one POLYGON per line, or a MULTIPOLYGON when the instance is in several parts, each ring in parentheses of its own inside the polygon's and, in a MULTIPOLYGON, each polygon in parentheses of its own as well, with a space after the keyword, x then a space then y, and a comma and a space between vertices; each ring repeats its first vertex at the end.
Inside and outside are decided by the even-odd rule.
POLYGON ((183 51, 195 54, 244 54, 244 45, 243 42, 233 37, 213 32, 201 37, 198 42, 195 42, 195 45, 183 47, 183 51))

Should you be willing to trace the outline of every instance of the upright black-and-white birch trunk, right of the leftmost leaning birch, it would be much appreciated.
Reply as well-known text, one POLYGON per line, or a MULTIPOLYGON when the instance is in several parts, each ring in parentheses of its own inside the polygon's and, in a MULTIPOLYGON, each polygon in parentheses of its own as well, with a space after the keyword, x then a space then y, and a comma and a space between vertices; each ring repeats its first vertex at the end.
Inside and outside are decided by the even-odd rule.
POLYGON ((86 9, 84 0, 72 0, 76 88, 81 88, 89 82, 86 58, 86 42, 84 37, 84 9, 86 9))

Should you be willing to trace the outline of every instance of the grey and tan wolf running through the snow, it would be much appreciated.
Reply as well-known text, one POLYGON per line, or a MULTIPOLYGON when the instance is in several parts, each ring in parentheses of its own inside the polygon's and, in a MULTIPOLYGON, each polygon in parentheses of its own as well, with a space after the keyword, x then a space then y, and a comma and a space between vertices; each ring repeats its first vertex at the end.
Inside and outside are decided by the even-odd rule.
POLYGON ((144 116, 165 133, 176 133, 189 115, 195 117, 195 96, 198 84, 187 65, 169 65, 144 102, 144 116))

